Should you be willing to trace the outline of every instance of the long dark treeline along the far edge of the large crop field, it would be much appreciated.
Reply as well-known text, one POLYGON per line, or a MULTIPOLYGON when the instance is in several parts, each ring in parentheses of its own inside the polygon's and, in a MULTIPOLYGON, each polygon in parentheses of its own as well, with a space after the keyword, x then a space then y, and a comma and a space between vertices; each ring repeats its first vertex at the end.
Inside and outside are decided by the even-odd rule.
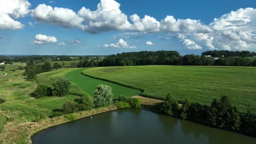
POLYGON ((177 51, 141 51, 141 52, 124 52, 117 55, 110 55, 99 63, 99 66, 132 66, 132 65, 223 65, 223 66, 245 66, 256 67, 256 60, 246 57, 232 57, 234 55, 247 56, 255 55, 254 52, 241 51, 224 54, 226 51, 207 51, 203 52, 201 56, 198 55, 184 55, 181 56, 177 51), (212 57, 206 57, 213 54, 212 57), (215 54, 214 54, 215 53, 215 54), (245 54, 247 53, 247 54, 245 54), (220 56, 221 55, 221 56, 220 56), (222 57, 224 55, 224 57, 222 57), (214 59, 218 56, 218 59, 214 59))

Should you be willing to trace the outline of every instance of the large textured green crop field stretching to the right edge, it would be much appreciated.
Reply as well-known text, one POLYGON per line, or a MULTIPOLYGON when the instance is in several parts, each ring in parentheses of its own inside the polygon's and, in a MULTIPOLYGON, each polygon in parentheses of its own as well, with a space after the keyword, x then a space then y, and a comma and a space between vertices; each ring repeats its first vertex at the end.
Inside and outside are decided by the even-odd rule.
POLYGON ((98 67, 85 75, 143 89, 142 95, 164 99, 167 94, 182 103, 185 99, 210 105, 214 98, 228 96, 238 110, 256 113, 256 68, 188 67, 148 65, 98 67))

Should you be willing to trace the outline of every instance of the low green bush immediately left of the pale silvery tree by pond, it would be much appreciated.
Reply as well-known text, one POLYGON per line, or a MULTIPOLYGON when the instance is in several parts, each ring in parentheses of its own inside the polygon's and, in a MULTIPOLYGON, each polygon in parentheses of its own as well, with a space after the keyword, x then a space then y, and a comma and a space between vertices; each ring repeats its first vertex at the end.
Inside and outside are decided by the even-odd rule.
POLYGON ((94 99, 90 96, 83 96, 74 100, 79 111, 87 111, 94 108, 94 99))

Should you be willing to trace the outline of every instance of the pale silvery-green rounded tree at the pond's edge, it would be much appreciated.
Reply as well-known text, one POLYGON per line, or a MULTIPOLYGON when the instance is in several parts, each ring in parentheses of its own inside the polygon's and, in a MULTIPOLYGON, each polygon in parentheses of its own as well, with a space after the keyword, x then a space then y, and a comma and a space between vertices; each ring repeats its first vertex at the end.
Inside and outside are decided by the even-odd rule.
POLYGON ((113 93, 112 87, 107 85, 98 85, 94 91, 95 107, 102 107, 112 104, 113 93))

